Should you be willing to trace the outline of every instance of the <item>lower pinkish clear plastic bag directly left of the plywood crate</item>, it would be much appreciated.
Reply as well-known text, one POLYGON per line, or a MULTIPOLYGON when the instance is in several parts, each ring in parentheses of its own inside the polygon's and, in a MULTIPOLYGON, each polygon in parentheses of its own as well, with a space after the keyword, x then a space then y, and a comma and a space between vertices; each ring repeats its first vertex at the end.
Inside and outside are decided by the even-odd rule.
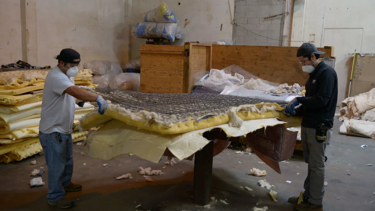
POLYGON ((141 74, 133 72, 123 72, 116 75, 110 83, 111 89, 126 89, 131 91, 140 90, 141 74))

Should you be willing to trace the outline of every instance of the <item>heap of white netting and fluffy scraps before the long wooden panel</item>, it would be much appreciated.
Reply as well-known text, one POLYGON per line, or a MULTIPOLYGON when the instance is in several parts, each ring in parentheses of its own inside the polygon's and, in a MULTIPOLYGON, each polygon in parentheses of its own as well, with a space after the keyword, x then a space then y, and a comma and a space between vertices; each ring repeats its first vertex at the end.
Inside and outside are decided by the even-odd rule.
POLYGON ((211 69, 196 72, 194 78, 198 81, 195 86, 202 86, 224 95, 249 96, 261 99, 290 101, 288 96, 300 95, 304 87, 299 84, 273 83, 263 80, 237 65, 231 65, 222 70, 211 69))

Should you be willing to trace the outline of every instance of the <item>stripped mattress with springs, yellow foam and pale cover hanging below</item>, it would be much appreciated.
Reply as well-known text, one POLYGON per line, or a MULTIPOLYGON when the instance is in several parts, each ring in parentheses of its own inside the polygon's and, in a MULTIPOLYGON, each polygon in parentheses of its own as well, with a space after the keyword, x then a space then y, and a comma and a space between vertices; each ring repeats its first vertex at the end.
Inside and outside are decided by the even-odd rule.
POLYGON ((228 137, 241 137, 286 123, 276 118, 288 121, 279 104, 261 99, 108 88, 89 91, 110 101, 104 115, 95 110, 81 119, 84 129, 103 125, 87 139, 86 153, 104 160, 132 153, 157 163, 167 148, 182 160, 207 145, 205 131, 221 128, 228 137))

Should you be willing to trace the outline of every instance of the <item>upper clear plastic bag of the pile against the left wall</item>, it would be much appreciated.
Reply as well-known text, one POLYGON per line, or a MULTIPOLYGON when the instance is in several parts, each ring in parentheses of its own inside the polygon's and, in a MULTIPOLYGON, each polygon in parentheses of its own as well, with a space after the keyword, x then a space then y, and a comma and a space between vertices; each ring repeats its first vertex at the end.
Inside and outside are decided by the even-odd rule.
POLYGON ((89 61, 83 64, 84 68, 91 69, 94 75, 104 75, 107 73, 122 73, 119 63, 113 61, 89 61))

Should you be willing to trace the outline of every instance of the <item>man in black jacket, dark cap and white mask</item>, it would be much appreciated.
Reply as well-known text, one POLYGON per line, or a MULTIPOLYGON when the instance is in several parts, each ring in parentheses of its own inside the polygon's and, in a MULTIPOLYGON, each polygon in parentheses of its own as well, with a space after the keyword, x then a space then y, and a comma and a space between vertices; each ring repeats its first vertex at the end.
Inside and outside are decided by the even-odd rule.
MULTIPOLYGON (((305 85, 305 96, 296 97, 285 109, 290 115, 302 116, 303 156, 309 164, 303 203, 294 206, 297 211, 323 211, 324 153, 332 135, 338 81, 336 71, 320 60, 321 54, 324 52, 318 51, 311 43, 304 43, 298 48, 297 57, 302 70, 310 77, 305 85)), ((290 197, 288 201, 297 204, 298 198, 290 197)))

